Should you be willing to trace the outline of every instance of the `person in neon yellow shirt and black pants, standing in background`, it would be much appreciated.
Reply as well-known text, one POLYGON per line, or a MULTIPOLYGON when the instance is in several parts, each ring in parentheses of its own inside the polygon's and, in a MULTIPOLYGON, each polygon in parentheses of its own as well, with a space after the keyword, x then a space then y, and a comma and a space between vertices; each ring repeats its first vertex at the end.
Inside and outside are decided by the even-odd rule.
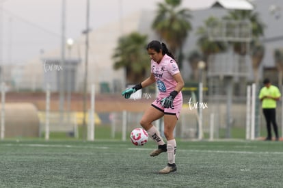
POLYGON ((261 88, 259 93, 260 101, 262 101, 262 111, 265 115, 265 120, 267 122, 267 137, 265 140, 271 140, 271 124, 273 125, 273 131, 275 133, 275 140, 279 140, 278 135, 278 126, 276 123, 276 103, 278 100, 280 100, 281 93, 275 85, 271 85, 271 82, 269 79, 265 79, 263 81, 263 84, 265 85, 263 88, 261 88))

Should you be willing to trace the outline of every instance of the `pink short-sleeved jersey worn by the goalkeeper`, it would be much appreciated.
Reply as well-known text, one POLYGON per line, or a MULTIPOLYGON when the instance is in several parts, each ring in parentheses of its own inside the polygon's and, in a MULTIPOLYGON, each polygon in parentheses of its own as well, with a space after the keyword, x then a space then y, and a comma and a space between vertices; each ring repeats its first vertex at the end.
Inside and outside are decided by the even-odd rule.
MULTIPOLYGON (((176 75, 178 72, 180 72, 175 60, 166 54, 163 56, 159 64, 151 60, 151 72, 157 82, 159 96, 161 98, 169 96, 170 92, 173 92, 177 85, 173 75, 176 75)), ((179 92, 175 100, 180 98, 182 98, 181 92, 179 92)))

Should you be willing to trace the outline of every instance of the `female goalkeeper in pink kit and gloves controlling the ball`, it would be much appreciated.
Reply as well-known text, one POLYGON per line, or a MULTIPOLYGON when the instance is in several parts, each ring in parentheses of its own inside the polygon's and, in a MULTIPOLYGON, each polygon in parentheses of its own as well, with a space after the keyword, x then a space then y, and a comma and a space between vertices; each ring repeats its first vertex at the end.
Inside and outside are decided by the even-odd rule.
POLYGON ((145 111, 140 124, 158 145, 157 150, 153 150, 150 156, 154 157, 162 152, 167 152, 167 166, 159 171, 160 174, 167 174, 177 170, 175 164, 176 140, 174 138, 174 129, 183 105, 183 96, 180 91, 184 87, 184 81, 180 75, 174 56, 168 51, 167 46, 163 42, 153 40, 148 44, 146 49, 151 58, 150 77, 133 88, 124 90, 122 95, 125 98, 130 98, 131 94, 137 90, 146 88, 154 82, 157 83, 159 95, 145 111), (152 124, 152 122, 163 116, 164 135, 167 144, 165 144, 159 131, 152 124))

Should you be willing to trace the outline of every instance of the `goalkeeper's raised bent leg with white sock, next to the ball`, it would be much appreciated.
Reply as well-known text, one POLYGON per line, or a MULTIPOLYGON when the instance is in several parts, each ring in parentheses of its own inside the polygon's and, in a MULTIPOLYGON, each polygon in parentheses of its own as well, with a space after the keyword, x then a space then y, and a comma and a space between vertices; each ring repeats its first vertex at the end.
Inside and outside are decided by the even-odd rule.
POLYGON ((142 120, 140 122, 142 127, 148 132, 150 138, 158 145, 158 148, 156 150, 150 152, 151 157, 157 156, 161 154, 161 152, 167 151, 167 145, 163 141, 157 128, 152 124, 152 122, 154 122, 155 120, 162 118, 163 115, 164 115, 163 111, 160 111, 150 106, 145 111, 144 116, 142 117, 142 120))

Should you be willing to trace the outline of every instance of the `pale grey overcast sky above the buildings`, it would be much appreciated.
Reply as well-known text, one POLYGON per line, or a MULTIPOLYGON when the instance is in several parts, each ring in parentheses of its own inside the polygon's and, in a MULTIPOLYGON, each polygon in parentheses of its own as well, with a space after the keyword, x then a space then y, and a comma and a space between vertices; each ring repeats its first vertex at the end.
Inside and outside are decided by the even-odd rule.
MULTIPOLYGON (((66 38, 78 38, 85 29, 86 1, 66 0, 66 38)), ((91 0, 90 27, 95 29, 118 21, 120 15, 127 16, 139 10, 156 10, 157 3, 163 1, 91 0)), ((214 1, 183 0, 183 7, 203 9, 214 1)), ((3 7, 0 63, 25 63, 41 50, 48 51, 61 45, 62 0, 0 0, 0 3, 3 7)))

